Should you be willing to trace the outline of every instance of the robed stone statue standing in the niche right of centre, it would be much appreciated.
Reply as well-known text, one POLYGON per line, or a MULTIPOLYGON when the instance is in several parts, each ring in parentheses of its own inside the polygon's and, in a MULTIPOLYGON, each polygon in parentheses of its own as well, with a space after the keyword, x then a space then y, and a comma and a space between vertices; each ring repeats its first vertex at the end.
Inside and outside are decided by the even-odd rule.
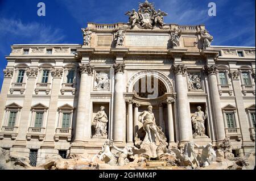
POLYGON ((204 122, 207 119, 207 111, 205 113, 201 111, 201 106, 197 106, 197 111, 191 117, 194 133, 193 137, 197 136, 207 136, 205 135, 204 122))

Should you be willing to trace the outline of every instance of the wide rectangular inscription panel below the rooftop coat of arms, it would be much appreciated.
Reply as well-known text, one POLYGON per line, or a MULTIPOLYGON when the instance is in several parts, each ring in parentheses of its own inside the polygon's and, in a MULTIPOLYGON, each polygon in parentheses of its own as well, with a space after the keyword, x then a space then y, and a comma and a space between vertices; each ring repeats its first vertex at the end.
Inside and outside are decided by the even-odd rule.
POLYGON ((168 35, 126 35, 125 46, 127 47, 167 47, 168 35))

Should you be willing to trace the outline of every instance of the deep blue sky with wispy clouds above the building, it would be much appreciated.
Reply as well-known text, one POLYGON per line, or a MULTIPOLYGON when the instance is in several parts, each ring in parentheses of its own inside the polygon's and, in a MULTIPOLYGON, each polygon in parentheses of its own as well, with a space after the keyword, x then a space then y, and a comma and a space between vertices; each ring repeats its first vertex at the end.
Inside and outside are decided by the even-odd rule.
MULTIPOLYGON (((127 10, 144 0, 0 0, 0 87, 12 44, 82 43, 80 28, 87 22, 127 22, 127 10), (46 16, 38 16, 38 3, 46 16)), ((213 45, 255 47, 255 0, 151 0, 168 13, 165 23, 205 24, 213 45), (208 3, 217 15, 208 16, 208 3)))

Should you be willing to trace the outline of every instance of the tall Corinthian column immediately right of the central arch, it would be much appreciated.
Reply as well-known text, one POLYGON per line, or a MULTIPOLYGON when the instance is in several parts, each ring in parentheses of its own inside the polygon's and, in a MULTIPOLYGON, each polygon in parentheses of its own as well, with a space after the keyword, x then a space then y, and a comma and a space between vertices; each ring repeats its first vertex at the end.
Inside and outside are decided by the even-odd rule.
POLYGON ((176 76, 177 108, 179 116, 180 141, 189 141, 192 138, 192 125, 189 113, 187 97, 187 82, 184 78, 186 68, 184 65, 175 65, 174 73, 176 76))

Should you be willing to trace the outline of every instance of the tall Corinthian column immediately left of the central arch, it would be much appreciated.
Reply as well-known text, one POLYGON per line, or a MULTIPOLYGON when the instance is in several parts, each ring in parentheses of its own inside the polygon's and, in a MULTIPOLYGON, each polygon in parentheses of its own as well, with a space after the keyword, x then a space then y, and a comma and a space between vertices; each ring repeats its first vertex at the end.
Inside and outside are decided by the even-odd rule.
POLYGON ((113 115, 113 138, 114 142, 125 142, 126 119, 123 115, 125 100, 123 99, 125 64, 114 64, 115 90, 114 90, 114 115, 113 115))

